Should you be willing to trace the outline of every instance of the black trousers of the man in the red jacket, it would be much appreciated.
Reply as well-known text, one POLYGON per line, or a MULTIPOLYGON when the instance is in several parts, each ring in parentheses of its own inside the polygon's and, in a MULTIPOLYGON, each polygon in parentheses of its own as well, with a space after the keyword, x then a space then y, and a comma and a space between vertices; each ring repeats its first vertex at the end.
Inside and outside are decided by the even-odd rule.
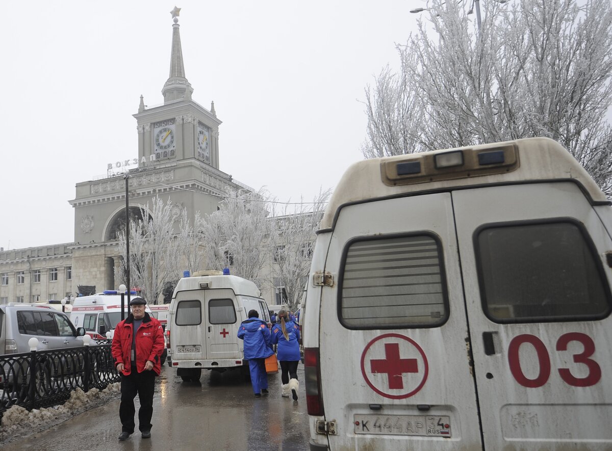
POLYGON ((119 405, 119 419, 123 432, 134 432, 134 398, 138 394, 140 409, 138 409, 138 429, 151 430, 151 417, 153 416, 153 393, 155 391, 155 372, 136 372, 132 368, 129 376, 121 375, 121 404, 119 405))

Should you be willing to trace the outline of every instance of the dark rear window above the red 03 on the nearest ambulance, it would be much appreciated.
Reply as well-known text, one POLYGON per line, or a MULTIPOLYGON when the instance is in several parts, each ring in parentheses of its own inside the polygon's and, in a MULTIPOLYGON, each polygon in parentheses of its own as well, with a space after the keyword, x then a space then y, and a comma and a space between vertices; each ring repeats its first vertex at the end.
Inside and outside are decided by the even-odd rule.
POLYGON ((477 231, 485 314, 497 323, 607 316, 610 292, 587 236, 581 224, 567 219, 496 224, 477 231))

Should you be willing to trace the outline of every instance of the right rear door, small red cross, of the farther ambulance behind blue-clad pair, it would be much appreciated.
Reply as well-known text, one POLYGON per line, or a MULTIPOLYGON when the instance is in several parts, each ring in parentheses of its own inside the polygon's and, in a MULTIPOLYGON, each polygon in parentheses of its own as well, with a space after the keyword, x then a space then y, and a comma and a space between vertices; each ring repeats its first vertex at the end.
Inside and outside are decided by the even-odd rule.
MULTIPOLYGON (((206 358, 242 359, 242 350, 238 343, 237 313, 240 307, 231 288, 204 290, 206 311, 206 341, 208 343, 206 358)), ((235 362, 234 362, 235 363, 235 362)))

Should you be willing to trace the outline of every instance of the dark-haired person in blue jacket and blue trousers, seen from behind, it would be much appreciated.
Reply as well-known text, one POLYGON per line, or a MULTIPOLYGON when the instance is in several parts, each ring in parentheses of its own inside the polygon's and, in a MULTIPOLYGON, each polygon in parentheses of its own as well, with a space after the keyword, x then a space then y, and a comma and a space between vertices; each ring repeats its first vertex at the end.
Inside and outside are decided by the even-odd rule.
POLYGON ((274 354, 270 342, 270 329, 259 319, 257 310, 249 310, 248 320, 242 321, 238 328, 238 338, 244 340, 244 359, 248 360, 251 384, 255 397, 267 395, 266 357, 274 354))

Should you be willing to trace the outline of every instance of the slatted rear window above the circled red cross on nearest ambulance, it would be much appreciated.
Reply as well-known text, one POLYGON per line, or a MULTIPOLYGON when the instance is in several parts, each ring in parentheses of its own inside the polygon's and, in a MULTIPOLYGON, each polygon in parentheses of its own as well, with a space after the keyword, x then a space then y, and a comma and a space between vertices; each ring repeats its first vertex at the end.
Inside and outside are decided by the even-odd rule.
POLYGON ((439 326, 448 317, 444 268, 433 235, 349 243, 340 275, 340 322, 349 329, 439 326))

